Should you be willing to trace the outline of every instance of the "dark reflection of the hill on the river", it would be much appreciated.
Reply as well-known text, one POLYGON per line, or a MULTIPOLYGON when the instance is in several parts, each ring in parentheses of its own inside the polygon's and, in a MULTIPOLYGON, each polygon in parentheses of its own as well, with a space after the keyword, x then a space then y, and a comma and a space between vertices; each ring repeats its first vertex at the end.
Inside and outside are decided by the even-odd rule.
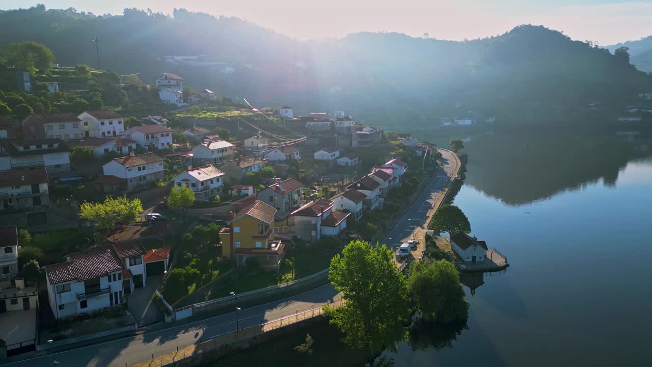
POLYGON ((615 185, 629 161, 652 155, 649 140, 597 136, 487 135, 465 145, 465 183, 513 206, 599 180, 615 185))

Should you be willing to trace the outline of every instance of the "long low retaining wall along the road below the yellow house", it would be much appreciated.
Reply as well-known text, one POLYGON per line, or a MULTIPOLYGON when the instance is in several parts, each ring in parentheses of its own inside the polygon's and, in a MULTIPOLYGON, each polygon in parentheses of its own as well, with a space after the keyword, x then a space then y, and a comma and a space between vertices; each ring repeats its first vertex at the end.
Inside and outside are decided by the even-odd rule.
POLYGON ((233 310, 236 307, 250 307, 261 304, 268 300, 278 300, 287 296, 297 295, 304 291, 310 291, 320 285, 328 283, 328 269, 322 270, 312 276, 297 279, 289 283, 273 285, 267 288, 256 289, 246 293, 240 293, 237 298, 226 296, 194 304, 192 315, 210 315, 220 311, 233 310))

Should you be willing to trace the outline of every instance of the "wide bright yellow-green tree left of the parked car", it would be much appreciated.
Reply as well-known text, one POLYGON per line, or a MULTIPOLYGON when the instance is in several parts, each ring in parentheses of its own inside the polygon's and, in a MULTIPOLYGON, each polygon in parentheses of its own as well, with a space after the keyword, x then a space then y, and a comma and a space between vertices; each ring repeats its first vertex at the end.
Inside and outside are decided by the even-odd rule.
POLYGON ((96 229, 108 232, 118 224, 127 224, 140 218, 143 206, 140 199, 107 197, 104 202, 82 202, 80 218, 93 221, 96 229))

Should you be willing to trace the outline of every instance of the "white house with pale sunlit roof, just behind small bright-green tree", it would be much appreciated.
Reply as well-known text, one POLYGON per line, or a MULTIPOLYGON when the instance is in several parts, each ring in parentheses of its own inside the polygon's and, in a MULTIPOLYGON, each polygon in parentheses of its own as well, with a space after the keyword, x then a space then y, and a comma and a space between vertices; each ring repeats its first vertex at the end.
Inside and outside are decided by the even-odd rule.
POLYGON ((222 195, 224 172, 213 165, 188 168, 172 179, 174 187, 190 187, 198 199, 210 199, 222 195))

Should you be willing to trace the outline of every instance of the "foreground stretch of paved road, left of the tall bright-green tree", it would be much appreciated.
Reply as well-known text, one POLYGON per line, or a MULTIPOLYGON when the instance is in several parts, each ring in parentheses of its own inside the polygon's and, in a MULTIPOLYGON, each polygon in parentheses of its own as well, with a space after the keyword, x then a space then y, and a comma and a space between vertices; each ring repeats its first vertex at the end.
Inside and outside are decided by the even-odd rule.
MULTIPOLYGON (((299 312, 310 310, 316 304, 321 305, 326 303, 327 300, 333 302, 339 299, 338 292, 335 291, 333 285, 323 285, 301 295, 241 310, 238 314, 238 325, 245 328, 259 325, 264 321, 279 319, 282 317, 281 315, 291 315, 297 310, 299 312)), ((151 359, 152 353, 155 353, 154 356, 157 357, 175 351, 177 346, 182 348, 198 343, 200 338, 205 341, 220 336, 222 332, 231 332, 235 330, 235 323, 235 312, 231 312, 202 321, 175 325, 162 330, 145 332, 137 336, 41 357, 29 359, 22 357, 22 360, 20 360, 21 356, 17 356, 0 361, 0 366, 51 367, 53 359, 59 362, 59 367, 124 367, 125 363, 126 366, 132 366, 151 359)))

